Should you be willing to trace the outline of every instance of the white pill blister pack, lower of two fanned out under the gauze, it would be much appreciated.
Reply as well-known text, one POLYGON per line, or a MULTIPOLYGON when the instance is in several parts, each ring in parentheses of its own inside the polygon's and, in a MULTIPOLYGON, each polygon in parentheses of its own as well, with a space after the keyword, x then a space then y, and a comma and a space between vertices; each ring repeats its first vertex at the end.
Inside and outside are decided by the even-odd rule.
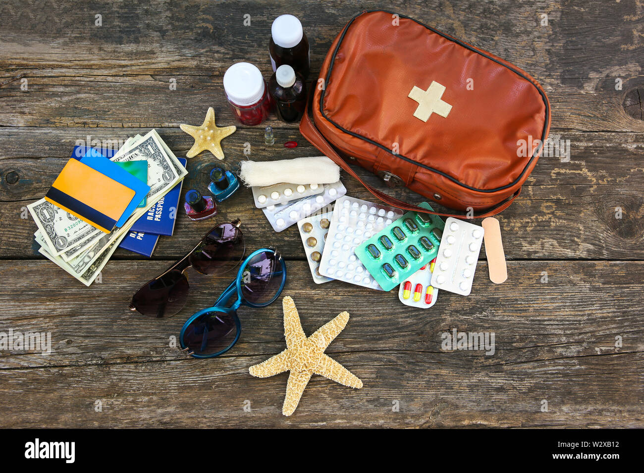
POLYGON ((308 196, 278 205, 269 205, 261 210, 266 218, 269 219, 273 230, 281 232, 346 194, 346 187, 341 181, 325 184, 323 187, 324 192, 316 196, 308 196))

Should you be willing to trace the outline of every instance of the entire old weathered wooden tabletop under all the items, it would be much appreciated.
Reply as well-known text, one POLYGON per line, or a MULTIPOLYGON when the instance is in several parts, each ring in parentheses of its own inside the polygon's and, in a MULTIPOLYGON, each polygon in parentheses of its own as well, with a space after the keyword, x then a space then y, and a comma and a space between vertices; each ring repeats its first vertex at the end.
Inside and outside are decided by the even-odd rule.
MULTIPOLYGON (((375 6, 2 3, 0 329, 49 331, 53 339, 50 355, 0 352, 2 427, 644 427, 644 8, 636 0, 390 6, 529 71, 551 100, 551 138, 569 140, 569 159, 540 159, 500 216, 504 284, 488 280, 485 252, 472 294, 441 292, 431 310, 406 308, 395 292, 314 284, 296 227, 273 232, 247 189, 220 206, 217 220, 242 219, 249 248, 273 244, 285 254, 283 295, 295 299, 307 334, 350 312, 328 353, 363 389, 314 376, 296 413, 282 416, 287 375, 248 373, 285 346, 279 303, 242 309, 242 337, 223 357, 196 360, 170 348, 187 316, 209 306, 230 276, 189 270, 189 302, 172 319, 126 310, 133 291, 212 220, 179 216, 151 259, 118 250, 90 288, 38 254, 24 209, 44 195, 77 140, 104 144, 155 127, 185 155, 192 140, 178 124, 200 124, 209 106, 218 124, 233 124, 222 88, 232 62, 248 60, 269 77, 276 15, 301 19, 317 71, 341 26, 375 6), (494 355, 444 351, 441 334, 452 329, 494 332, 494 355)), ((263 144, 263 127, 240 126, 223 142, 225 162, 242 159, 245 143, 253 160, 319 154, 296 125, 270 125, 276 145, 263 144), (287 140, 299 147, 284 149, 287 140)), ((209 153, 189 160, 184 192, 205 188, 213 162, 209 153)), ((343 181, 348 194, 371 199, 343 181)))

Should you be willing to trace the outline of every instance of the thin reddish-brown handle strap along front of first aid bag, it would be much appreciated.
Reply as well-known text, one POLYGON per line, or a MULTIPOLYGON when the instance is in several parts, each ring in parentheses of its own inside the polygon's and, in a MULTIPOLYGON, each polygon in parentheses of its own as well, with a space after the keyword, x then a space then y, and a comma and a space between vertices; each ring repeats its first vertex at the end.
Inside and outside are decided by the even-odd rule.
POLYGON ((459 219, 475 219, 475 218, 486 218, 486 217, 491 217, 493 215, 498 214, 499 212, 502 212, 502 210, 506 210, 507 207, 511 205, 511 203, 518 197, 518 195, 521 193, 521 188, 519 187, 518 190, 513 194, 512 198, 509 200, 500 203, 497 205, 497 207, 493 207, 493 209, 489 209, 486 213, 477 215, 477 216, 464 216, 460 214, 443 214, 440 212, 435 212, 432 210, 428 209, 423 209, 422 207, 417 207, 416 205, 412 205, 410 203, 403 202, 402 200, 393 198, 392 196, 389 196, 385 194, 383 191, 376 189, 375 187, 368 185, 365 181, 363 181, 360 176, 358 176, 355 171, 348 165, 343 158, 339 154, 337 154, 336 150, 334 147, 327 141, 327 139, 322 136, 322 134, 319 132, 317 129, 316 125, 313 124, 311 121, 310 117, 308 116, 308 102, 307 102, 307 107, 305 108, 304 111, 304 116, 302 117, 301 122, 299 122, 299 133, 302 134, 309 142, 311 142, 312 145, 314 145, 319 151, 327 155, 331 160, 333 160, 339 167, 344 169, 346 172, 348 172, 351 176, 353 176, 359 183, 361 183, 363 186, 366 187, 366 190, 374 194, 375 197, 381 199, 384 203, 387 203, 388 205, 391 205, 392 207, 396 207, 397 209, 402 209, 402 210, 413 210, 414 212, 424 212, 427 214, 433 214, 433 215, 440 215, 442 217, 453 217, 453 218, 459 218, 459 219))

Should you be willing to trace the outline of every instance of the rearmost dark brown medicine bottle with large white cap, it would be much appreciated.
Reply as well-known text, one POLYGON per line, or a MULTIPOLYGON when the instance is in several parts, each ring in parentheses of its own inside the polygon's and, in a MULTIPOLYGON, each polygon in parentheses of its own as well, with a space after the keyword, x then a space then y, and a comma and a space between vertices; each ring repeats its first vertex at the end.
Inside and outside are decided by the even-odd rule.
POLYGON ((308 77, 308 39, 302 30, 302 24, 293 15, 281 15, 273 21, 269 53, 273 71, 277 71, 282 64, 288 64, 304 79, 308 77))

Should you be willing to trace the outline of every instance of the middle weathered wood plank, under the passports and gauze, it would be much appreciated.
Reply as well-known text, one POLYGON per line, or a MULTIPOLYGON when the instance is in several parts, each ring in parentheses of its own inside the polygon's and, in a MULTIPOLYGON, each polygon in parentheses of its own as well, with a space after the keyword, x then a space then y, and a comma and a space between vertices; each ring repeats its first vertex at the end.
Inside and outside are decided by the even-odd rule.
MULTIPOLYGON (((3 201, 0 221, 10 228, 0 234, 0 257, 38 256, 32 238, 36 227, 24 209, 44 195, 70 156, 76 140, 93 143, 97 140, 97 144, 109 146, 146 131, 0 129, 0 200, 3 201)), ((178 156, 184 156, 191 147, 192 138, 179 129, 159 131, 178 156)), ((223 141, 227 156, 223 163, 233 165, 245 157, 276 160, 319 155, 319 151, 295 130, 276 129, 275 134, 276 145, 269 147, 263 143, 260 130, 240 129, 223 141), (287 140, 297 140, 301 146, 296 149, 281 147, 287 140), (251 145, 249 156, 243 154, 245 143, 251 145)), ((507 256, 511 259, 643 259, 644 134, 571 132, 554 138, 570 140, 570 162, 562 162, 555 156, 541 158, 524 185, 522 195, 500 215, 507 256), (616 218, 618 207, 621 219, 616 218)), ((193 187, 206 188, 207 173, 215 161, 207 152, 189 160, 184 193, 193 187)), ((384 187, 372 174, 356 169, 370 183, 384 187)), ((348 194, 374 199, 345 173, 343 182, 348 194)), ((418 194, 405 189, 388 192, 412 202, 422 200, 418 194)), ((249 245, 275 243, 291 257, 303 256, 298 230, 293 227, 274 233, 261 210, 255 209, 250 190, 240 190, 238 195, 220 205, 219 211, 216 220, 242 219, 249 245)), ((189 221, 180 212, 175 236, 160 239, 155 257, 178 257, 212 225, 212 220, 189 221)), ((138 258, 123 250, 118 250, 115 257, 138 258)))

